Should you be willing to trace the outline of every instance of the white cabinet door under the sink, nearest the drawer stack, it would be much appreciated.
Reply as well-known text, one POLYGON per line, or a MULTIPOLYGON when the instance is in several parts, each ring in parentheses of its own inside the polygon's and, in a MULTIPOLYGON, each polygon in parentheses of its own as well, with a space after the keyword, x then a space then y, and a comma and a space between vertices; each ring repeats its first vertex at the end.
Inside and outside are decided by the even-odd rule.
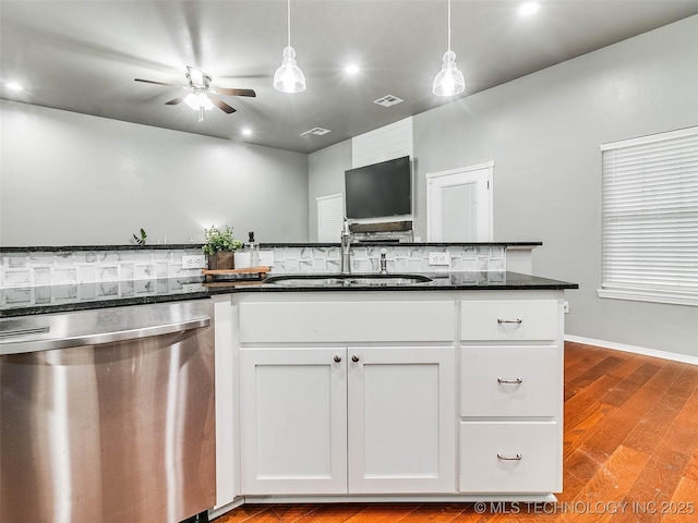
POLYGON ((349 348, 349 492, 453 492, 453 346, 349 348))

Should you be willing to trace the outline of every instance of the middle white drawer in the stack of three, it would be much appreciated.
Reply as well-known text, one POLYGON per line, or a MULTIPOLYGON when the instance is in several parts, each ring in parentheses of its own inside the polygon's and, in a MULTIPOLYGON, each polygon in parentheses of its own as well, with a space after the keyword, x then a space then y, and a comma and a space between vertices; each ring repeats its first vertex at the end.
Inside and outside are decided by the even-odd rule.
POLYGON ((556 345, 466 346, 461 416, 556 416, 563 402, 556 345))

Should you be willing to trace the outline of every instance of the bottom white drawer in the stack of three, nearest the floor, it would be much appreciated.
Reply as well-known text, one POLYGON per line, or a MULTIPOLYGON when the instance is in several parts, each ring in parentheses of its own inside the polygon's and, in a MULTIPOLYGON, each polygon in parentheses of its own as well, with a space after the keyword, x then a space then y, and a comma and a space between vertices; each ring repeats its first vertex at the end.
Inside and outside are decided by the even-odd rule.
POLYGON ((562 434, 555 422, 462 422, 460 490, 562 491, 562 434))

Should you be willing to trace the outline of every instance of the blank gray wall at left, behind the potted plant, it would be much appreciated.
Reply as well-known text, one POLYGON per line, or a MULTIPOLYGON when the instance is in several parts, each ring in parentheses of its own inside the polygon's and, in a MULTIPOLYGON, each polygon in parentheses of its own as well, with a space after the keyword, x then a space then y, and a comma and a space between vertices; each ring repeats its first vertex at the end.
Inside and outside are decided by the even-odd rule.
POLYGON ((308 241, 308 155, 0 101, 0 245, 308 241))

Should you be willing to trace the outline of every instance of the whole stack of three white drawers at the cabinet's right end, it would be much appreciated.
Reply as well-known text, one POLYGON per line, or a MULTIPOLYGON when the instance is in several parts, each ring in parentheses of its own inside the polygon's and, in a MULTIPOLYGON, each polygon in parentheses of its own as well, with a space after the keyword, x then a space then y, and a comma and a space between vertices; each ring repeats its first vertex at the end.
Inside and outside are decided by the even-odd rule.
POLYGON ((460 304, 459 489, 559 492, 563 304, 502 297, 460 304))

